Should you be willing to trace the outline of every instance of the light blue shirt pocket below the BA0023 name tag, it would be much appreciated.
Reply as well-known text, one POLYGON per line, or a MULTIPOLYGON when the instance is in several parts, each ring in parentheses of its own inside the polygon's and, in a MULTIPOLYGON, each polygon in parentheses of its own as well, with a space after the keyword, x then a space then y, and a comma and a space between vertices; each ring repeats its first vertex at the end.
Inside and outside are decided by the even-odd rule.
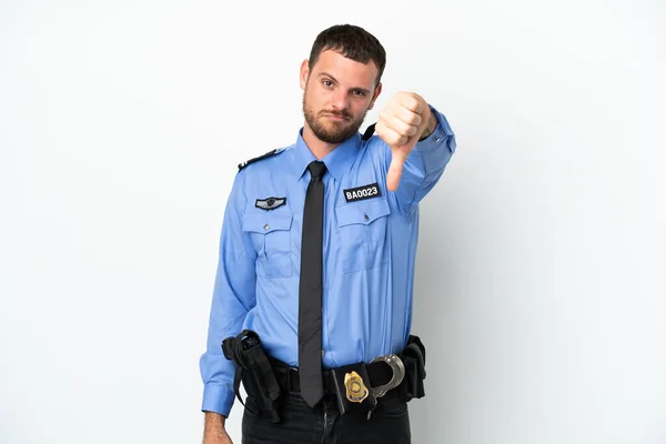
POLYGON ((386 199, 352 202, 335 209, 344 273, 374 269, 389 261, 386 199))

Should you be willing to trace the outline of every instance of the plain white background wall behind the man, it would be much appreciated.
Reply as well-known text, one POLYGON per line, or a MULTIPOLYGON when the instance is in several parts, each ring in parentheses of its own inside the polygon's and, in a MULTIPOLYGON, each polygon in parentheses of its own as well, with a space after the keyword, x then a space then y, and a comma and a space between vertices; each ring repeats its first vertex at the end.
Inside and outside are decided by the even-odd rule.
POLYGON ((660 0, 1 1, 0 443, 200 442, 236 164, 295 140, 339 22, 389 53, 366 124, 412 90, 458 142, 414 442, 666 443, 660 0))

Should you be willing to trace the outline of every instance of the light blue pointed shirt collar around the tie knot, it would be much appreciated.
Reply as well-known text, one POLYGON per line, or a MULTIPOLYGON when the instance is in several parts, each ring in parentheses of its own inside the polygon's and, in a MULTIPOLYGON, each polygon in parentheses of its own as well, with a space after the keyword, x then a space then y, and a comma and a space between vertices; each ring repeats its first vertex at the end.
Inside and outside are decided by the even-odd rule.
MULTIPOLYGON (((359 149, 361 148, 361 134, 356 132, 354 135, 335 147, 333 151, 326 154, 322 161, 326 165, 326 170, 331 175, 340 181, 345 172, 350 170, 359 149)), ((310 148, 303 140, 303 128, 299 130, 296 143, 294 145, 294 158, 291 162, 291 170, 296 180, 303 176, 307 165, 313 160, 316 160, 310 148)))

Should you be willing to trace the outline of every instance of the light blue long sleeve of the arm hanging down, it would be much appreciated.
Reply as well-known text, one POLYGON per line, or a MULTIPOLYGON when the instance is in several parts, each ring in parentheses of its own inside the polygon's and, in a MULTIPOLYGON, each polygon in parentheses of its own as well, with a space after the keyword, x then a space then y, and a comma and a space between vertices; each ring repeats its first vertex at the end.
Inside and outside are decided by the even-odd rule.
POLYGON ((248 312, 255 304, 256 253, 248 233, 242 231, 246 202, 243 178, 244 171, 239 172, 224 212, 206 350, 200 359, 203 380, 201 410, 224 416, 229 416, 234 402, 235 364, 224 357, 222 341, 241 332, 248 312))

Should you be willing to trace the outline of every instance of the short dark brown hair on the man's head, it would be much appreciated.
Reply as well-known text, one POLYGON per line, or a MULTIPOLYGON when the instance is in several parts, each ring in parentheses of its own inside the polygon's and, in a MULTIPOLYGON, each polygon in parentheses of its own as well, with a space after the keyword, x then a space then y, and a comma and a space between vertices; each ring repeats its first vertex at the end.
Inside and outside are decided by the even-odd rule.
POLYGON ((386 51, 376 37, 354 24, 335 24, 319 33, 310 51, 309 67, 316 63, 323 51, 333 50, 360 63, 373 61, 379 69, 375 87, 386 67, 386 51))

